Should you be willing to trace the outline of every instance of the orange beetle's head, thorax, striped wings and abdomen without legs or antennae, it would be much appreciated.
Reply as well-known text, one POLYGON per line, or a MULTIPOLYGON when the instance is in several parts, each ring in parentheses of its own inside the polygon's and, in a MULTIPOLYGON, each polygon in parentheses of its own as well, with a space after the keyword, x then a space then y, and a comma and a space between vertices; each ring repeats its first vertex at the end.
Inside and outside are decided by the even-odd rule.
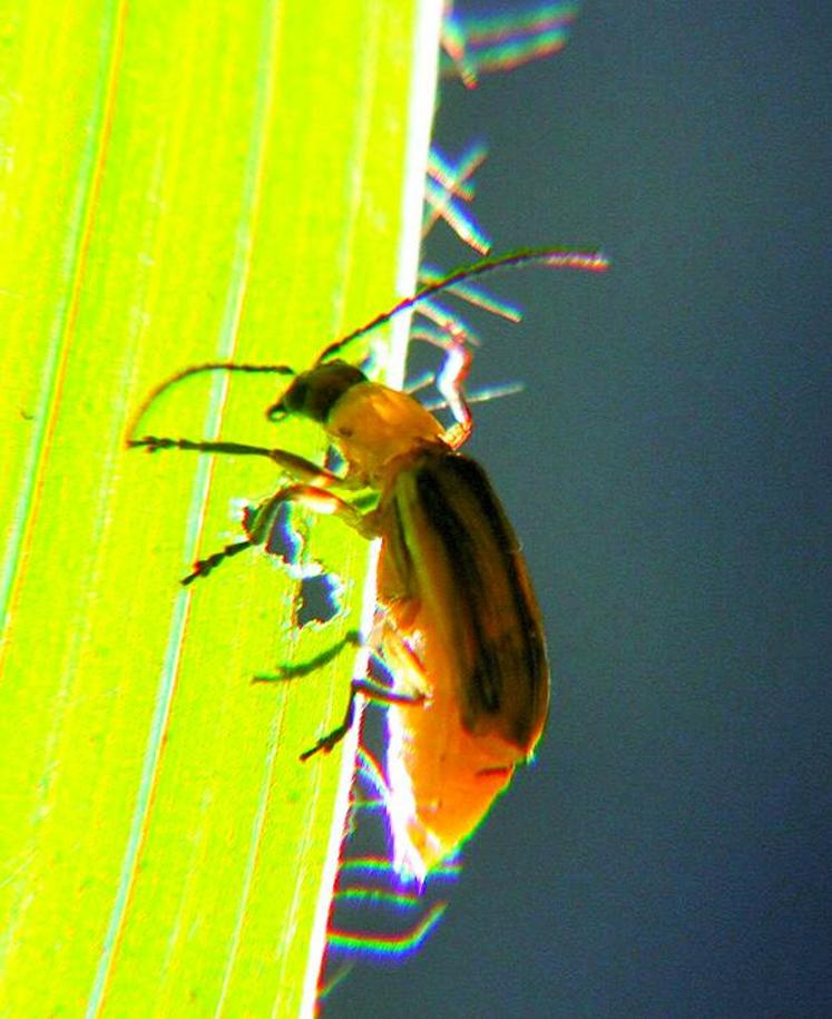
POLYGON ((453 449, 466 422, 446 430, 340 361, 298 375, 275 409, 319 420, 348 464, 342 482, 380 492, 360 521, 329 494, 315 506, 323 492, 300 501, 381 538, 373 643, 411 698, 388 706, 390 814, 397 861, 423 876, 542 732, 549 675, 528 570, 483 470, 453 449))

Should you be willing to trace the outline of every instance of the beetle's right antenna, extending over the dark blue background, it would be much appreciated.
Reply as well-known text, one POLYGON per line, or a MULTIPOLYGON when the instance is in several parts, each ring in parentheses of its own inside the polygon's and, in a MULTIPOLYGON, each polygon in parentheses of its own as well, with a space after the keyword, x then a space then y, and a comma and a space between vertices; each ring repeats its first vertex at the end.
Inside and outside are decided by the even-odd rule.
POLYGON ((417 305, 422 304, 434 294, 442 293, 459 283, 464 283, 477 276, 484 276, 487 273, 492 273, 500 268, 517 267, 520 265, 534 264, 536 262, 552 268, 577 268, 594 273, 604 272, 609 266, 609 262, 603 252, 570 252, 565 251, 564 248, 551 247, 523 248, 521 251, 507 252, 505 255, 482 258, 480 262, 474 262, 472 265, 463 265, 452 270, 447 276, 443 276, 434 283, 428 283, 425 286, 420 287, 412 296, 404 297, 398 304, 393 305, 390 311, 382 312, 382 314, 376 315, 365 325, 353 330, 353 332, 348 333, 345 336, 331 343, 323 351, 316 363, 321 364, 329 360, 333 354, 340 353, 349 343, 352 343, 353 340, 366 335, 366 333, 372 332, 376 326, 390 322, 391 319, 394 319, 402 312, 417 307, 417 305))

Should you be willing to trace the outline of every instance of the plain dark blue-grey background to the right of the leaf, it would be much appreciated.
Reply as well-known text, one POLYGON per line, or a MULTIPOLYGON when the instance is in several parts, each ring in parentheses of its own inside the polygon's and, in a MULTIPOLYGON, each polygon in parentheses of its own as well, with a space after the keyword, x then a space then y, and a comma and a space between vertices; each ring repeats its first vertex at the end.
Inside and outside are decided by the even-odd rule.
POLYGON ((473 382, 528 388, 470 451, 551 721, 438 932, 330 1019, 832 1015, 829 38, 819 3, 598 0, 562 55, 446 85, 495 247, 614 265, 492 281, 527 315, 480 323, 473 382))

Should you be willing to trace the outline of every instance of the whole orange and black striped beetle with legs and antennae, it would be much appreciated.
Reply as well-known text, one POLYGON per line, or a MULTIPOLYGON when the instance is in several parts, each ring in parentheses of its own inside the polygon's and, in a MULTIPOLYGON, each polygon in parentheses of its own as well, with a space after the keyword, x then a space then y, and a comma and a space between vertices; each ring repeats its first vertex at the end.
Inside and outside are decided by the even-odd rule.
POLYGON ((205 371, 294 375, 268 408, 270 420, 301 415, 320 424, 340 452, 339 474, 283 450, 154 435, 128 444, 242 454, 272 460, 291 482, 248 515, 246 537, 197 560, 183 582, 264 545, 286 503, 339 517, 364 538, 381 539, 371 650, 390 667, 392 688, 353 680, 343 723, 302 755, 330 751, 353 722, 358 693, 388 708, 388 809, 395 865, 418 878, 473 832, 515 767, 530 760, 549 706, 542 619, 520 545, 482 468, 459 452, 472 429, 463 392, 471 354, 444 344, 439 384, 453 413, 446 428, 413 396, 371 381, 340 356, 378 325, 454 284, 506 266, 545 263, 599 271, 600 254, 560 249, 486 258, 422 287, 366 325, 331 343, 307 371, 287 365, 211 363, 166 380, 136 415, 170 385, 205 371), (353 493, 373 493, 360 509, 353 493))

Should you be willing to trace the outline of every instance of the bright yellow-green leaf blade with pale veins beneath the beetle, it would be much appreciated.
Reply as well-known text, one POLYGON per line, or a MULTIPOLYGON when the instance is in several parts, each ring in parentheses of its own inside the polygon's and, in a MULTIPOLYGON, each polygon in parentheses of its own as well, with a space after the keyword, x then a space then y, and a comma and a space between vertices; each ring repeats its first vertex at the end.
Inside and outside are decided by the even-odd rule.
MULTIPOLYGON (((74 0, 2 37, 0 1012, 310 1015, 354 746, 340 655, 368 546, 310 523, 351 614, 292 626, 258 552, 180 588, 267 462, 125 449, 172 372, 301 368, 412 288, 441 4, 74 0)), ((277 380, 280 383, 280 380, 277 380)), ((280 444, 265 376, 154 434, 280 444)))

